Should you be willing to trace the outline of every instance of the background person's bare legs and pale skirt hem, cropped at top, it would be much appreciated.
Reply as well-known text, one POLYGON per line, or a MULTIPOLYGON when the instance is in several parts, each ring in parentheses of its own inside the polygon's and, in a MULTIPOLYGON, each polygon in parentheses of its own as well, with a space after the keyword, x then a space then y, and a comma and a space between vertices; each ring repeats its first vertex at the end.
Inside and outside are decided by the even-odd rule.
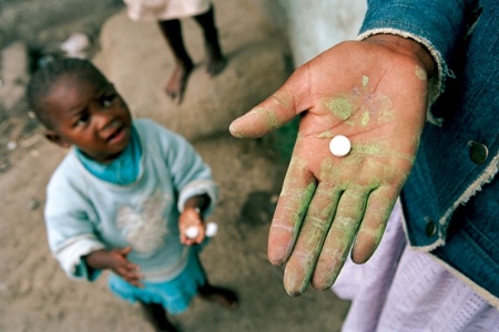
POLYGON ((179 19, 194 17, 203 29, 208 74, 215 76, 225 68, 226 60, 221 51, 211 0, 124 0, 124 2, 132 20, 157 20, 160 24, 161 32, 175 58, 175 69, 165 87, 165 92, 172 101, 177 104, 182 102, 187 79, 194 69, 182 39, 182 27, 179 19))

